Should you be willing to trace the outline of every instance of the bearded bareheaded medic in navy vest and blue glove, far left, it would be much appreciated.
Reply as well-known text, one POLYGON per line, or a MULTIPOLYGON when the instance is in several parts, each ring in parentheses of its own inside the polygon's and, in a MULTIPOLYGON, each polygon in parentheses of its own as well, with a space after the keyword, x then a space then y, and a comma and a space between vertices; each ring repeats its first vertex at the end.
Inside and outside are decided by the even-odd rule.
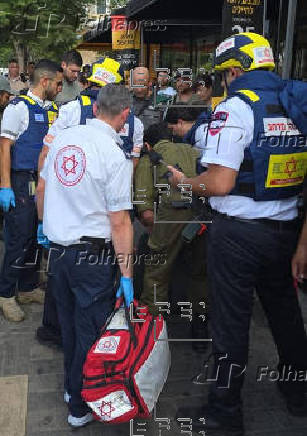
POLYGON ((9 321, 25 317, 16 293, 20 304, 44 302, 39 287, 35 188, 43 138, 58 113, 52 99, 62 87, 62 76, 58 64, 41 60, 27 95, 12 100, 3 114, 0 207, 4 211, 5 254, 0 273, 0 308, 9 321))

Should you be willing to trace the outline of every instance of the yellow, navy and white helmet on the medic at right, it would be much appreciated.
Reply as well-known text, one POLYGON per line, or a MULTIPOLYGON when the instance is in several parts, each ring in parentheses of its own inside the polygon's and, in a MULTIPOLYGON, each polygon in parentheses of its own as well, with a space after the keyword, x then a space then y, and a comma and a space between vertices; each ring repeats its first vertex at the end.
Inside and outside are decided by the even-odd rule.
POLYGON ((273 51, 269 41, 257 33, 237 33, 225 39, 216 49, 214 69, 223 71, 238 67, 243 71, 258 68, 275 69, 273 51))

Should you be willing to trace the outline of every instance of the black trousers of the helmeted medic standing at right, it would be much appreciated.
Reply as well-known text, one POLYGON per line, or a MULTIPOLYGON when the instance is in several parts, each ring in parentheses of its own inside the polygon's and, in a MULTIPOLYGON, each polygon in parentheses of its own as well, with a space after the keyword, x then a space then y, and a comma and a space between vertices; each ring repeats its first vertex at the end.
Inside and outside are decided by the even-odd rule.
MULTIPOLYGON (((266 224, 214 218, 207 259, 218 377, 210 386, 209 406, 219 415, 241 415, 254 290, 268 318, 279 367, 307 369, 307 338, 291 275, 298 233, 295 228, 280 231, 266 224)), ((289 393, 304 389, 301 381, 285 383, 289 393)))

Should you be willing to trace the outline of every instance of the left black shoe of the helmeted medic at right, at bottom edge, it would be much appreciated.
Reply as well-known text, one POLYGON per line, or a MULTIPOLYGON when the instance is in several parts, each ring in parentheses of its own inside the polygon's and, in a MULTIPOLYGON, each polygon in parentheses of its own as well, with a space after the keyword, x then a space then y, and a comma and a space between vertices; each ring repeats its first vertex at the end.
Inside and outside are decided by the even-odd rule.
POLYGON ((244 436, 242 416, 227 419, 217 418, 205 407, 180 407, 176 413, 177 425, 181 430, 186 429, 187 422, 183 418, 192 419, 194 432, 203 430, 206 436, 244 436))

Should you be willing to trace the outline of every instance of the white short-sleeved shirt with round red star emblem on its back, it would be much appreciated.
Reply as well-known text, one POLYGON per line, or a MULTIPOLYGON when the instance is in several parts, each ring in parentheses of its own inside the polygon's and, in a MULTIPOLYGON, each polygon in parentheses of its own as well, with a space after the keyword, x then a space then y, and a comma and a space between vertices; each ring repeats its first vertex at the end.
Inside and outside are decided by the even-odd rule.
POLYGON ((44 233, 61 245, 82 236, 111 239, 109 212, 132 209, 133 164, 103 121, 64 130, 53 141, 45 179, 44 233))

